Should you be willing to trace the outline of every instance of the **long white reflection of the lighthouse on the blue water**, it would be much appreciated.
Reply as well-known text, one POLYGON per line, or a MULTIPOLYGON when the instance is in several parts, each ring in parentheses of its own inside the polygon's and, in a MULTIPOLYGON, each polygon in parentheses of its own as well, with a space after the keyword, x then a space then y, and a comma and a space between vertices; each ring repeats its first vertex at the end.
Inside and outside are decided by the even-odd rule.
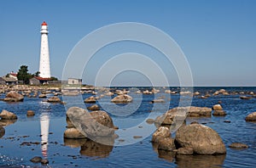
POLYGON ((41 126, 41 149, 43 157, 47 158, 48 150, 48 135, 49 135, 49 114, 43 113, 40 116, 40 126, 41 126))

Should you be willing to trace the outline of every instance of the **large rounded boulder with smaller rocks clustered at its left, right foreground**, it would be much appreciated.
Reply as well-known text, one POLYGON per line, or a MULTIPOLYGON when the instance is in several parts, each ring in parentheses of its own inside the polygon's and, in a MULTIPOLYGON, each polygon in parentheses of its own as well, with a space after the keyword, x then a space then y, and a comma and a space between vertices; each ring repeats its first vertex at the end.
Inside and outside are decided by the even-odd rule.
POLYGON ((152 143, 158 150, 173 154, 225 154, 226 148, 218 133, 208 126, 190 124, 182 126, 172 138, 169 128, 160 126, 153 134, 152 143))

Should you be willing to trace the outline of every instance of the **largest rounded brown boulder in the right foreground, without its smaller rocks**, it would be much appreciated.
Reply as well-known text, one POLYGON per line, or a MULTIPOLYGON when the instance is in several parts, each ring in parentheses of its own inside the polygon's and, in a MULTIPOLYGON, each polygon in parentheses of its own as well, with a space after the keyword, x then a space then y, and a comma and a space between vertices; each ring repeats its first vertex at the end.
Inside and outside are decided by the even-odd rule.
POLYGON ((208 126, 192 124, 176 132, 177 148, 193 148, 194 154, 225 154, 226 148, 218 133, 208 126))

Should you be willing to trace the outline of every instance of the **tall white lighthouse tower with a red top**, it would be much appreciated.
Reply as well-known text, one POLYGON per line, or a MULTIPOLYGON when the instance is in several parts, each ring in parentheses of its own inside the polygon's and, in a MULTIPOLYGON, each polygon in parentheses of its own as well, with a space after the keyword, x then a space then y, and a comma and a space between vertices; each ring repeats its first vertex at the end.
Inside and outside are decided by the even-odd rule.
POLYGON ((41 50, 40 50, 40 64, 39 72, 40 77, 50 78, 50 67, 49 67, 49 46, 48 46, 48 26, 44 21, 41 26, 41 50))

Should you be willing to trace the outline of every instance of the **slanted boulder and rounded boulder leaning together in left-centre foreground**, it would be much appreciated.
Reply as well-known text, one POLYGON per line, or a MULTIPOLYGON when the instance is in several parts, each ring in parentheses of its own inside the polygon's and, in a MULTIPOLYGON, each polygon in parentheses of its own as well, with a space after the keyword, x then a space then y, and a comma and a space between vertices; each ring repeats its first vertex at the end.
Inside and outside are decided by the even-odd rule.
POLYGON ((89 113, 86 109, 72 107, 67 110, 67 116, 85 137, 107 137, 114 133, 113 120, 105 111, 89 113))

